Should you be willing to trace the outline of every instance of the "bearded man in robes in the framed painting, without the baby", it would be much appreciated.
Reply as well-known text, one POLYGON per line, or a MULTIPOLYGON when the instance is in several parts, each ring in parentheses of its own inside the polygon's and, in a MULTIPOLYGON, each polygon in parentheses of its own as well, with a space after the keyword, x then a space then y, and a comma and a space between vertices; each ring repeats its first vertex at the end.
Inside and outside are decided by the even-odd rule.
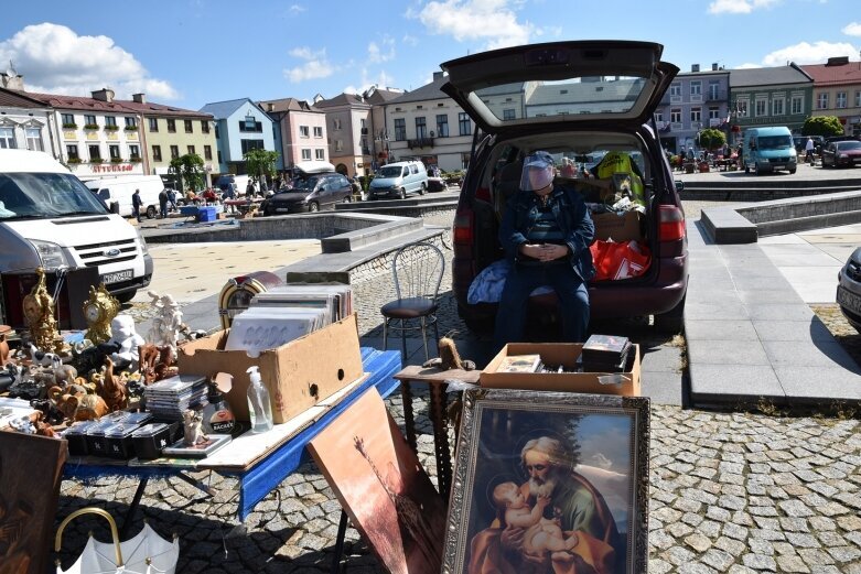
POLYGON ((520 486, 530 507, 539 496, 550 497, 545 518, 556 520, 566 535, 580 539, 570 556, 530 554, 526 529, 496 523, 471 541, 469 573, 615 574, 624 572, 625 543, 610 508, 589 480, 573 470, 575 461, 566 445, 548 436, 526 443, 521 453, 529 479, 520 486))

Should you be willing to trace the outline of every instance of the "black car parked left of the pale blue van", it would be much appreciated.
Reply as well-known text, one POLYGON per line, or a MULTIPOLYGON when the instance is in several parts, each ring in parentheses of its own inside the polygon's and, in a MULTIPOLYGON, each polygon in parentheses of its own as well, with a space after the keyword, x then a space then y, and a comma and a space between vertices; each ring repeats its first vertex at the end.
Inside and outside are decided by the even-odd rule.
POLYGON ((318 173, 293 180, 293 187, 263 199, 263 215, 319 212, 321 207, 353 201, 353 185, 340 173, 318 173))

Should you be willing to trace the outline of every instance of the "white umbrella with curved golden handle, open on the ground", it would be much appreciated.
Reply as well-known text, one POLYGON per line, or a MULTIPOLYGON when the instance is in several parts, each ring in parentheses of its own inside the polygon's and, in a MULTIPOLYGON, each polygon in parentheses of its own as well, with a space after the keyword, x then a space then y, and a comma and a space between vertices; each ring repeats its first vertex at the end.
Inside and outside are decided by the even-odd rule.
POLYGON ((169 542, 155 533, 148 523, 143 524, 137 537, 126 542, 119 541, 117 523, 110 513, 100 508, 82 508, 72 512, 60 524, 54 539, 54 550, 60 552, 63 529, 80 515, 94 513, 105 517, 110 522, 112 542, 98 542, 93 534, 87 540, 78 560, 68 570, 60 567, 57 574, 174 574, 176 560, 180 557, 180 541, 176 535, 169 542))

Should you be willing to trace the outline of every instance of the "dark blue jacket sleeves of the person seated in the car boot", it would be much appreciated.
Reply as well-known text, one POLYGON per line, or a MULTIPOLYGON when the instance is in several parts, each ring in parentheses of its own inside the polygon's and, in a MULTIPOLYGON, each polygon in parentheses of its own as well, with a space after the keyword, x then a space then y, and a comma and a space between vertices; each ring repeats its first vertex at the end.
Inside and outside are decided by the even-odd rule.
MULTIPOLYGON (((571 251, 569 262, 571 269, 583 282, 595 275, 592 264, 592 252, 589 246, 595 237, 595 225, 589 215, 583 198, 575 191, 555 186, 550 192, 553 197, 553 217, 564 235, 564 242, 571 251)), ((517 192, 505 208, 503 223, 499 227, 499 242, 512 263, 517 261, 519 248, 528 242, 526 235, 538 217, 537 196, 532 192, 517 192)))

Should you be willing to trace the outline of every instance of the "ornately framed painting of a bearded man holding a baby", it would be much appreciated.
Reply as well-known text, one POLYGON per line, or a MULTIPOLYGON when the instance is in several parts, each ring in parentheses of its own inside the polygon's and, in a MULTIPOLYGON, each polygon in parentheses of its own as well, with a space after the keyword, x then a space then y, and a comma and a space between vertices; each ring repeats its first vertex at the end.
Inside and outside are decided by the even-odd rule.
POLYGON ((443 573, 639 574, 648 399, 470 390, 443 573))

